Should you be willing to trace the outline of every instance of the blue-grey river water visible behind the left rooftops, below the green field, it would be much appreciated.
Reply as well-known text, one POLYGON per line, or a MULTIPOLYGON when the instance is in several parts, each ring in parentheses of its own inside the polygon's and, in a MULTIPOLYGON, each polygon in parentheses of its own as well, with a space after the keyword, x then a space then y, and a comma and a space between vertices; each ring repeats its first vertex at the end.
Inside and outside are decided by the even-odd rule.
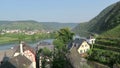
MULTIPOLYGON (((42 41, 44 41, 44 42, 48 42, 48 43, 52 43, 53 42, 53 39, 46 39, 46 40, 42 40, 42 41)), ((39 41, 39 42, 42 42, 42 41, 39 41)), ((27 43, 29 46, 31 46, 31 47, 36 47, 37 46, 37 44, 39 43, 39 42, 29 42, 29 43, 27 43)), ((19 44, 18 43, 10 43, 10 44, 2 44, 2 45, 0 45, 0 50, 7 50, 7 49, 11 49, 12 47, 14 47, 14 46, 18 46, 19 44)))

